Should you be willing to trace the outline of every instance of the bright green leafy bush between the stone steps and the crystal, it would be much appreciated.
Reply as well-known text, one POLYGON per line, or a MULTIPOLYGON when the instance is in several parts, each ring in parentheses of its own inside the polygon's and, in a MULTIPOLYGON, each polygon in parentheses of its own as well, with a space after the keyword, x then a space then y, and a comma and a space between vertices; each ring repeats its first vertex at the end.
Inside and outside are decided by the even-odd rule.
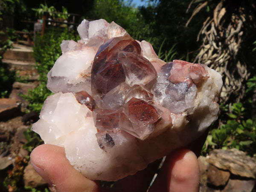
POLYGON ((52 68, 55 61, 61 55, 62 40, 78 39, 78 36, 73 32, 64 31, 48 31, 44 36, 36 36, 34 56, 36 61, 36 69, 39 74, 40 85, 33 90, 29 90, 23 98, 29 101, 29 111, 40 112, 44 105, 44 100, 52 93, 47 89, 47 73, 52 68))

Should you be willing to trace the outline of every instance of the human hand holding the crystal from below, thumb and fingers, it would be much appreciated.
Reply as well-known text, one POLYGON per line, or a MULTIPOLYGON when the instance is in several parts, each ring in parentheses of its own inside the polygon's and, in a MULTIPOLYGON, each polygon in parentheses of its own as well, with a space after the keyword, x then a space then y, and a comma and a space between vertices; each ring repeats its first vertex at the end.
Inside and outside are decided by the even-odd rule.
MULTIPOLYGON (((40 145, 30 158, 35 170, 49 183, 49 189, 57 192, 146 192, 160 163, 160 160, 151 163, 135 175, 116 181, 112 188, 104 189, 99 181, 89 180, 73 168, 62 147, 40 145)), ((149 192, 196 192, 199 181, 196 155, 182 148, 166 157, 149 192)))

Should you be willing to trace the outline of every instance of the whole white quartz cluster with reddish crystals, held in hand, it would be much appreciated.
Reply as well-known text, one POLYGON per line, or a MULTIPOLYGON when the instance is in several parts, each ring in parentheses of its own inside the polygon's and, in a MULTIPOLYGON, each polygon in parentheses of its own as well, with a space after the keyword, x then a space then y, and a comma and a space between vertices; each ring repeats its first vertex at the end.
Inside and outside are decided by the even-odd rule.
POLYGON ((32 130, 91 180, 119 180, 191 143, 217 119, 220 74, 164 62, 116 23, 83 20, 48 73, 32 130))

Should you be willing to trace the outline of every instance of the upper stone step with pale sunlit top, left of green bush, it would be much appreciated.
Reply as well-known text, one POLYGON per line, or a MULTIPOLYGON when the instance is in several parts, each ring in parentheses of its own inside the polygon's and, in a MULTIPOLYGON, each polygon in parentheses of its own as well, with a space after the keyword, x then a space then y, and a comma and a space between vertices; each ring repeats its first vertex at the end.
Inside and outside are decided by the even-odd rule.
POLYGON ((13 44, 13 49, 7 50, 3 59, 35 62, 33 48, 21 44, 13 44))

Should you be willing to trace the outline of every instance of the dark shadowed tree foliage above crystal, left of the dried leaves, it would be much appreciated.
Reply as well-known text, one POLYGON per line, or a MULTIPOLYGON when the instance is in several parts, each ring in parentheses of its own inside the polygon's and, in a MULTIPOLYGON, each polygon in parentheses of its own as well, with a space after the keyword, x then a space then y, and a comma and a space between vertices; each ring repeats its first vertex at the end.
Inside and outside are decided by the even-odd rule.
MULTIPOLYGON (((150 43, 157 52, 165 40, 165 44, 161 48, 162 52, 166 50, 168 52, 175 44, 176 58, 186 58, 188 53, 192 59, 195 57, 193 51, 199 48, 196 38, 205 18, 207 18, 205 16, 209 13, 205 8, 201 15, 196 15, 192 23, 186 27, 186 22, 196 6, 192 4, 189 11, 186 12, 190 2, 191 0, 151 0, 151 4, 147 7, 140 8, 145 25, 150 29, 149 36, 152 37, 150 43)), ((212 8, 209 7, 209 9, 212 8)))

